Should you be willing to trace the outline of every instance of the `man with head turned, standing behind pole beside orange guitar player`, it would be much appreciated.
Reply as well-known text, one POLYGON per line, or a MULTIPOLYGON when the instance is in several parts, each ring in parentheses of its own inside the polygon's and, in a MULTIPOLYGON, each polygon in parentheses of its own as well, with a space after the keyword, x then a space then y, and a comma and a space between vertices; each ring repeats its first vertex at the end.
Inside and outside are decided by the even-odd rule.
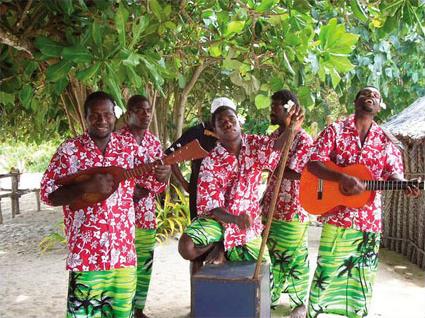
MULTIPOLYGON (((299 107, 295 94, 281 90, 273 94, 270 119, 279 125, 270 137, 278 138, 291 122, 289 110, 299 107)), ((300 173, 310 158, 312 138, 299 129, 289 150, 288 161, 276 202, 267 246, 272 262, 274 294, 276 304, 282 292, 289 294, 291 317, 305 317, 309 284, 308 264, 308 214, 299 201, 300 173)), ((276 176, 269 179, 263 199, 263 214, 267 215, 276 185, 276 176)))

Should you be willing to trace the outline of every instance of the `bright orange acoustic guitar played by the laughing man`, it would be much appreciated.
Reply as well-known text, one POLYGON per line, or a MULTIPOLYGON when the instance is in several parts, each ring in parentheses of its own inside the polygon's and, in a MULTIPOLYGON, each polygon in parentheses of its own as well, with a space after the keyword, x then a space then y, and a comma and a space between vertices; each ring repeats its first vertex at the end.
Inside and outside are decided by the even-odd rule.
POLYGON ((304 168, 300 180, 300 203, 310 214, 323 215, 337 206, 362 208, 373 202, 378 190, 404 190, 407 186, 424 189, 424 182, 414 181, 381 181, 373 180, 372 173, 363 164, 340 167, 331 161, 324 162, 329 169, 345 173, 362 180, 366 191, 355 195, 345 195, 340 191, 336 181, 320 179, 304 168))

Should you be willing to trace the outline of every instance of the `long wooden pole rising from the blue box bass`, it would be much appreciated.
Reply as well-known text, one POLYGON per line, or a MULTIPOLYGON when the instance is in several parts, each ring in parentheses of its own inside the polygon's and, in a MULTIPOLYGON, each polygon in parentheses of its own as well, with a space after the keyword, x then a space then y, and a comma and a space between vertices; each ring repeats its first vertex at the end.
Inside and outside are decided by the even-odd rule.
POLYGON ((289 127, 284 132, 284 134, 288 132, 288 137, 285 140, 285 144, 283 145, 282 150, 281 150, 280 163, 279 163, 279 167, 278 167, 279 170, 278 170, 277 176, 276 176, 276 183, 274 185, 272 199, 271 199, 270 205, 269 205, 269 211, 267 212, 267 223, 266 223, 266 227, 264 228, 263 240, 261 241, 260 253, 258 254, 257 264, 255 266, 254 276, 252 278, 254 280, 257 280, 258 276, 260 274, 261 263, 263 262, 263 255, 264 255, 264 251, 266 249, 267 239, 269 238, 270 227, 272 226, 273 214, 274 214, 274 210, 275 210, 275 207, 276 207, 277 197, 279 195, 280 186, 282 184, 283 173, 285 172, 286 162, 288 161, 289 149, 291 148, 292 141, 293 141, 294 136, 295 136, 295 124, 296 124, 296 120, 291 120, 291 124, 289 125, 289 127))

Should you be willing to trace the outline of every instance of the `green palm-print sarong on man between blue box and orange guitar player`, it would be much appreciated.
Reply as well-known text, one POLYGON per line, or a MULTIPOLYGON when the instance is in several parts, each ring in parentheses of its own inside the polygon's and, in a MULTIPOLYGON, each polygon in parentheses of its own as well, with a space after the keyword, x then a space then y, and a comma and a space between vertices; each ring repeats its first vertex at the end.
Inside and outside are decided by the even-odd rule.
POLYGON ((309 283, 308 222, 273 220, 267 246, 272 261, 276 304, 288 293, 291 308, 306 304, 309 283))

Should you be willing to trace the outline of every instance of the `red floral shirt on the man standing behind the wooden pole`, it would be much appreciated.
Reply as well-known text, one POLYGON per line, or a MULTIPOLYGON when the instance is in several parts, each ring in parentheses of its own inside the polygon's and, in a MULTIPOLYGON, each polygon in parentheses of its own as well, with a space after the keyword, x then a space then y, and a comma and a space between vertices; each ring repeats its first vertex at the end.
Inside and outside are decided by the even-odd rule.
MULTIPOLYGON (((279 130, 274 131, 271 138, 279 137, 279 130)), ((294 137, 291 149, 289 150, 288 161, 286 168, 295 172, 301 173, 304 166, 310 159, 310 150, 313 144, 313 139, 301 129, 294 137)), ((267 185, 263 199, 263 214, 269 211, 270 201, 273 194, 273 189, 276 184, 276 176, 273 175, 267 185)), ((307 212, 300 205, 300 181, 283 179, 280 186, 279 196, 276 202, 274 218, 283 221, 291 221, 295 216, 298 216, 300 222, 308 221, 307 212)))

